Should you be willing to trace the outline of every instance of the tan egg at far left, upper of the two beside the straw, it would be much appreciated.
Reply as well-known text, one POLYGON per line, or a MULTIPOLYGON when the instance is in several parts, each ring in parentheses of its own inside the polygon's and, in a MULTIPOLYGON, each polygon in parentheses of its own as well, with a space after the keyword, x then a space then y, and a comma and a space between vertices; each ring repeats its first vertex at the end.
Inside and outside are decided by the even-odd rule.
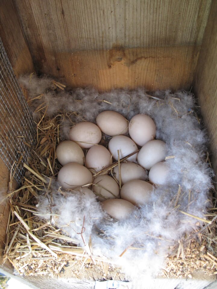
POLYGON ((74 141, 62 141, 56 148, 56 156, 62 166, 67 163, 84 164, 84 153, 82 148, 74 141))

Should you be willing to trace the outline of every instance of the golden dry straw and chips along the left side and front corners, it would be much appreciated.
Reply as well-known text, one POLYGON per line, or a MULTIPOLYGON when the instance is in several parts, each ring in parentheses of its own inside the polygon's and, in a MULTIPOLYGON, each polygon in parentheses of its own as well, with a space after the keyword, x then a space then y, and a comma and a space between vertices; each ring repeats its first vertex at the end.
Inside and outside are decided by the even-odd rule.
MULTIPOLYGON (((55 85, 61 86, 60 83, 55 85)), ((60 88, 63 89, 62 86, 60 88)), ((11 175, 7 195, 10 214, 4 260, 8 259, 20 275, 124 280, 124 275, 115 264, 92 256, 91 242, 88 250, 77 247, 73 239, 52 225, 51 220, 47 222, 38 216, 37 197, 42 191, 49 190, 52 178, 57 176, 61 168, 56 161, 55 148, 60 142, 59 128, 62 119, 69 117, 68 113, 60 113, 49 119, 46 116, 46 109, 47 107, 43 105, 36 109, 41 113, 41 119, 36 124, 36 145, 32 148, 28 163, 24 164, 27 170, 22 185, 15 191, 11 191, 13 180, 11 175)), ((105 145, 103 138, 101 143, 105 145)), ((209 162, 208 155, 207 162, 209 162)), ((118 164, 119 162, 115 163, 118 164)), ((14 166, 18 166, 18 163, 14 163, 14 166)), ((213 196, 216 196, 216 192, 213 192, 213 196)), ((176 197, 178 200, 178 194, 176 197)), ((215 206, 216 198, 213 197, 213 209, 209 210, 208 215, 204 215, 208 220, 204 227, 201 228, 198 223, 195 232, 190 236, 183 236, 182 240, 177 241, 177 246, 170 248, 173 254, 167 256, 161 276, 192 278, 197 270, 202 270, 205 275, 217 274, 215 206)))

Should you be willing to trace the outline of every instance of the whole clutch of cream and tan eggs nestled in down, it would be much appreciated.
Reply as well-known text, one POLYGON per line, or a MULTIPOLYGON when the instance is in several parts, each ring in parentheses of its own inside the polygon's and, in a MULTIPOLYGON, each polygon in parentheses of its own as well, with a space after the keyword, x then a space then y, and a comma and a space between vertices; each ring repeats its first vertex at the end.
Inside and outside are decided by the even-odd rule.
POLYGON ((151 183, 163 185, 168 179, 168 167, 162 162, 166 156, 166 144, 155 140, 155 135, 155 123, 145 114, 132 117, 129 126, 123 115, 111 110, 99 113, 96 124, 77 123, 70 129, 70 140, 62 141, 56 148, 57 159, 63 166, 58 173, 59 185, 62 189, 71 189, 72 193, 90 196, 94 193, 108 215, 117 220, 126 218, 135 206, 150 202, 155 191, 151 183), (108 148, 99 144, 102 132, 112 136, 108 148), (130 137, 126 136, 128 132, 130 137), (141 147, 139 153, 137 145, 141 147), (114 167, 114 178, 108 176, 108 172, 97 176, 97 172, 112 164, 112 158, 117 161, 130 154, 132 156, 127 158, 127 162, 114 167), (151 183, 146 182, 146 170, 150 170, 151 183))

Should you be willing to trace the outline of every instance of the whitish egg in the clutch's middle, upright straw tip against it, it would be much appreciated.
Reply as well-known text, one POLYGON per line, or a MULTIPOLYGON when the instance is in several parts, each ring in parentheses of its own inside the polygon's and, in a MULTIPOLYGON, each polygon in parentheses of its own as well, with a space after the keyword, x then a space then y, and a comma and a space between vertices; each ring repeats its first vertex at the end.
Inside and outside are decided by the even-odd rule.
MULTIPOLYGON (((133 152, 137 151, 137 145, 131 138, 128 138, 125 135, 117 135, 114 136, 108 143, 108 150, 112 154, 112 157, 115 160, 118 160, 118 150, 120 154, 120 159, 132 154, 133 152)), ((137 159, 138 153, 128 157, 127 160, 129 162, 135 162, 137 159)))

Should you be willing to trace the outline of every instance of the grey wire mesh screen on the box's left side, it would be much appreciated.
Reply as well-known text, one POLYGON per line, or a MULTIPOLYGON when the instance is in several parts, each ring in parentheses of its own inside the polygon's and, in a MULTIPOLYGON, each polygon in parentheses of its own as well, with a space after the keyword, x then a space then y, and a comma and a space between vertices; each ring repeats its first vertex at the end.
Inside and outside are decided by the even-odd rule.
POLYGON ((0 39, 0 154, 20 183, 34 141, 34 122, 0 39))

